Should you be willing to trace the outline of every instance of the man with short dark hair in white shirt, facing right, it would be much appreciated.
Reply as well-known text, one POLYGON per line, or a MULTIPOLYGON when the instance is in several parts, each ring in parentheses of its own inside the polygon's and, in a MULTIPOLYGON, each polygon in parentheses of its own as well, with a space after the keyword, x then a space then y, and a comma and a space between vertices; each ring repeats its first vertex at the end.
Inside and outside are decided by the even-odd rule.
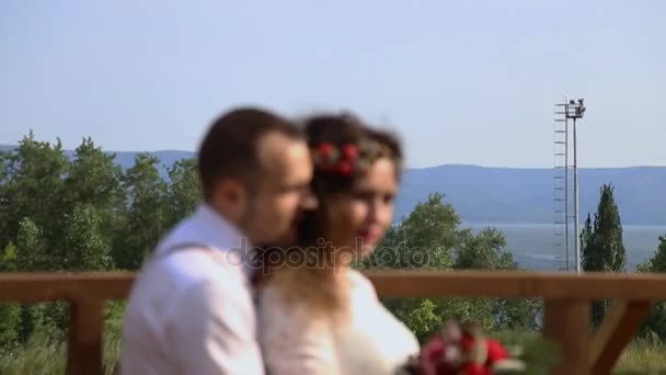
POLYGON ((292 241, 300 211, 315 204, 309 150, 290 122, 238 109, 208 130, 198 169, 205 202, 162 239, 133 287, 124 375, 264 372, 246 255, 253 245, 292 241))

